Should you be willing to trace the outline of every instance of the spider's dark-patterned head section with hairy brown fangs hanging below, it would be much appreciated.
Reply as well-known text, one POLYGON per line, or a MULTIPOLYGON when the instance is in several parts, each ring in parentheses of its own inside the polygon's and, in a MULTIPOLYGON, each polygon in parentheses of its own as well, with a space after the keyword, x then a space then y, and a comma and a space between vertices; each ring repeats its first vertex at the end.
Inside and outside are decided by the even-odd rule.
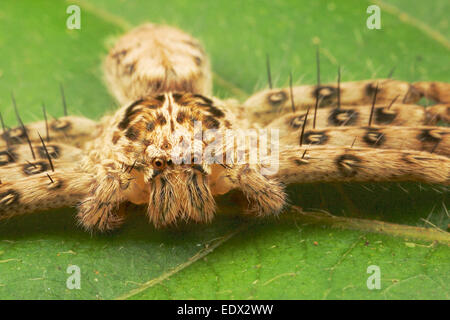
POLYGON ((146 97, 119 110, 111 125, 112 157, 134 176, 125 193, 148 203, 156 226, 211 220, 211 183, 223 168, 205 162, 204 151, 211 131, 230 127, 216 102, 191 93, 146 97))

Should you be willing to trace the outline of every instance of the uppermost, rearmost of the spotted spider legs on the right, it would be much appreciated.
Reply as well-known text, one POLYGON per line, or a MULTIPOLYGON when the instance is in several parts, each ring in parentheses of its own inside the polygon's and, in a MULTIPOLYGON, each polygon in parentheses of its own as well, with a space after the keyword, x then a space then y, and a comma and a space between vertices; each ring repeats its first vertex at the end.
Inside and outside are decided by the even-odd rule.
POLYGON ((450 84, 443 82, 417 82, 378 79, 321 86, 303 85, 283 89, 267 89, 253 94, 242 106, 242 112, 262 125, 274 117, 306 110, 308 107, 339 107, 370 105, 376 94, 377 105, 393 101, 404 104, 417 103, 422 97, 437 103, 450 103, 450 84))

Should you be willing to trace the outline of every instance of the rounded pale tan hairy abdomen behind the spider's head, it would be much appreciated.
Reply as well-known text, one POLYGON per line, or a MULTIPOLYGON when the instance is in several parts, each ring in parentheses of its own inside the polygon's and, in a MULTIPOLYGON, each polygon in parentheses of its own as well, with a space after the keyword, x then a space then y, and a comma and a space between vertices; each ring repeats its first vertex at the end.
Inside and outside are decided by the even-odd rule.
POLYGON ((130 31, 110 51, 104 70, 111 92, 122 104, 164 92, 211 94, 203 47, 174 27, 145 24, 130 31))

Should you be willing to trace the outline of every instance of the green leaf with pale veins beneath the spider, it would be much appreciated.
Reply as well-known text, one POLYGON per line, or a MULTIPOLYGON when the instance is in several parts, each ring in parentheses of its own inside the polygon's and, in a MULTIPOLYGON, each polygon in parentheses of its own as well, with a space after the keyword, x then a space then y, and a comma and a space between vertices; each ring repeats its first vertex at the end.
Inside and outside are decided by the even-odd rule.
MULTIPOLYGON (((34 1, 0 2, 0 108, 15 125, 14 92, 26 122, 58 117, 59 84, 71 114, 98 119, 116 108, 101 62, 121 33, 145 21, 178 26, 210 53, 215 94, 244 99, 266 87, 266 54, 277 86, 314 83, 320 41, 322 81, 385 77, 449 81, 448 1, 376 1, 382 29, 366 28, 369 2, 34 1), (81 30, 66 8, 81 7, 81 30), (437 10, 439 8, 439 10, 437 10)), ((1 178, 1 177, 0 177, 1 178)), ((218 199, 209 225, 155 230, 142 210, 117 232, 90 235, 75 210, 0 222, 2 299, 448 299, 447 191, 419 184, 302 185, 305 208, 280 218, 242 216, 238 195, 218 199), (333 216, 324 214, 329 212, 333 216), (336 217, 337 216, 337 217, 336 217), (385 221, 380 223, 379 221, 385 221), (66 270, 81 269, 69 290, 66 270), (380 267, 369 290, 367 268, 380 267)))

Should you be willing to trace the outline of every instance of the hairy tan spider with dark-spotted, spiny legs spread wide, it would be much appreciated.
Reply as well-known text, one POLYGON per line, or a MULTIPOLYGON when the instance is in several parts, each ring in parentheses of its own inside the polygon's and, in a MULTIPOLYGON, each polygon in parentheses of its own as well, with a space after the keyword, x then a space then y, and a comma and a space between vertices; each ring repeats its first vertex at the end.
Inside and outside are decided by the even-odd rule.
MULTIPOLYGON (((99 122, 66 115, 25 125, 17 109, 18 127, 2 120, 0 218, 77 206, 84 228, 106 231, 133 203, 146 204, 162 227, 211 221, 214 197, 232 189, 248 199, 249 213, 266 216, 283 210, 290 183, 450 182, 450 129, 436 126, 450 121, 447 83, 341 83, 339 72, 334 84, 274 89, 269 81, 244 103, 222 101, 211 96, 199 41, 156 24, 120 38, 104 72, 123 107, 99 122), (414 104, 423 97, 436 104, 414 104), (250 161, 238 136, 217 138, 238 129, 278 132, 270 157, 250 161)), ((263 144, 267 137, 254 142, 263 144)))

